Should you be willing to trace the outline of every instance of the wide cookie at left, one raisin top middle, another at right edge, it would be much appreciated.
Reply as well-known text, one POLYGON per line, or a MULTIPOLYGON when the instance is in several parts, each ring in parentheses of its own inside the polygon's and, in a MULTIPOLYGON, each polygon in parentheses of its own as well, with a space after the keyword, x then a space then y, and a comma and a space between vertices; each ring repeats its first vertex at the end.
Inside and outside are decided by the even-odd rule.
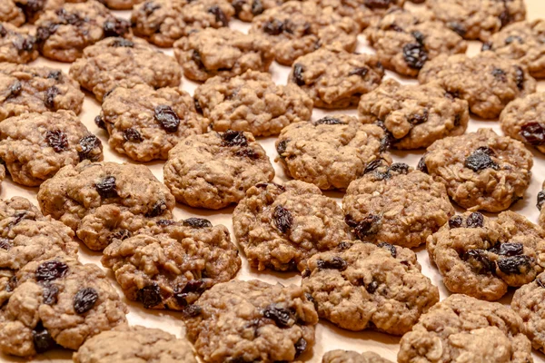
POLYGON ((37 200, 91 250, 172 218, 174 197, 144 165, 80 162, 45 181, 37 200))

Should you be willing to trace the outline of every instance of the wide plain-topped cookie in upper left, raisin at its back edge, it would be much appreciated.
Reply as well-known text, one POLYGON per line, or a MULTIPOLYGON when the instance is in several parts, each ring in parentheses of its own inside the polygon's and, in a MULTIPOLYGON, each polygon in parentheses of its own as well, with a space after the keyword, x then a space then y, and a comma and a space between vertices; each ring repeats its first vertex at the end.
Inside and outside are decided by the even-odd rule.
POLYGON ((173 57, 140 39, 110 37, 84 49, 70 66, 70 75, 98 101, 116 86, 144 83, 154 88, 176 87, 182 71, 173 57))

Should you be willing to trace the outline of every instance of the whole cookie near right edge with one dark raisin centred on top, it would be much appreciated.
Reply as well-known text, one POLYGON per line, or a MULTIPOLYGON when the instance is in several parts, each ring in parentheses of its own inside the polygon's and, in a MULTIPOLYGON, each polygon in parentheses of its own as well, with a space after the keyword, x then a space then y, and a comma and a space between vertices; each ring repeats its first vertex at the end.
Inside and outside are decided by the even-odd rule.
POLYGON ((522 142, 491 129, 433 142, 419 162, 470 211, 505 211, 524 196, 531 178, 531 152, 522 142))

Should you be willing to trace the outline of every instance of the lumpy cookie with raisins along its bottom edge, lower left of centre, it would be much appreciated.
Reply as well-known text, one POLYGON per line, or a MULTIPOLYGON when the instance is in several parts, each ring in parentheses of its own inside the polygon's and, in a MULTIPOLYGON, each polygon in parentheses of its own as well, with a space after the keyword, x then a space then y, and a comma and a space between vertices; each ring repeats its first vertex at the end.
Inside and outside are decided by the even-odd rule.
POLYGON ((199 218, 165 225, 159 233, 114 239, 102 263, 114 270, 127 299, 146 309, 183 310, 206 289, 234 278, 239 251, 223 225, 199 218))

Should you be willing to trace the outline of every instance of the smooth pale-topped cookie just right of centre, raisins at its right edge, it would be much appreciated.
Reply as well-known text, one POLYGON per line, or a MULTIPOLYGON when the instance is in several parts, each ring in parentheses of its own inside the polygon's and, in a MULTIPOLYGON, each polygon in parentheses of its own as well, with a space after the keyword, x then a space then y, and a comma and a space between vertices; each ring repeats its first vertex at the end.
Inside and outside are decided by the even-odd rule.
POLYGON ((384 150, 385 137, 379 126, 364 125, 348 115, 293 123, 276 140, 275 161, 293 179, 322 190, 346 190, 371 162, 391 163, 390 153, 384 150))

